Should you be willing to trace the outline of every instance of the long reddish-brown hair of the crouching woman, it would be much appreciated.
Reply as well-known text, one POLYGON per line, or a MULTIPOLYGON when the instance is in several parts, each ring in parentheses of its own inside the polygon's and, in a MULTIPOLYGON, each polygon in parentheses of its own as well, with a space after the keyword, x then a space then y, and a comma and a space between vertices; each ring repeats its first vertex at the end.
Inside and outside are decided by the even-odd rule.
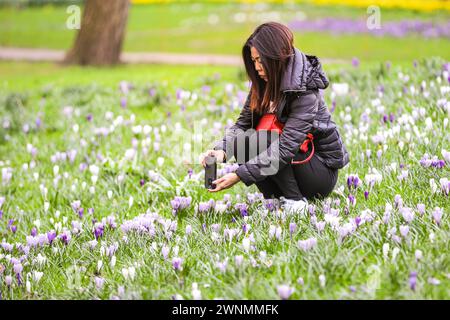
POLYGON ((281 100, 281 78, 287 59, 294 54, 294 36, 292 31, 278 22, 267 22, 258 26, 242 48, 245 70, 251 81, 250 108, 263 114, 273 101, 276 108, 281 100), (251 57, 251 47, 258 50, 267 82, 255 69, 251 57))

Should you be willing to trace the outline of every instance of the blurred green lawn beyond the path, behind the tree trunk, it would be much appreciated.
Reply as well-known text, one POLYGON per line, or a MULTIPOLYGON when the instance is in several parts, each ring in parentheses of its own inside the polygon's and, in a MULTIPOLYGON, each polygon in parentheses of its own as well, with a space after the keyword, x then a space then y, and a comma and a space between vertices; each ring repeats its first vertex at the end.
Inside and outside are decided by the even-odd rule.
MULTIPOLYGON (((240 55, 241 47, 258 21, 237 24, 236 12, 260 14, 275 10, 288 23, 299 11, 307 17, 364 18, 365 10, 347 7, 313 7, 310 5, 269 6, 263 11, 239 4, 172 4, 132 6, 130 9, 125 51, 189 52, 240 55), (208 17, 219 17, 217 25, 208 24, 208 17)), ((448 13, 417 13, 414 11, 383 10, 382 22, 399 19, 445 21, 448 13)), ((65 7, 37 7, 24 10, 0 8, 0 45, 67 49, 76 34, 65 27, 65 7)), ((333 36, 325 33, 295 33, 296 46, 319 57, 363 61, 391 60, 393 62, 442 56, 450 59, 448 39, 422 39, 408 36, 397 39, 368 35, 333 36)))

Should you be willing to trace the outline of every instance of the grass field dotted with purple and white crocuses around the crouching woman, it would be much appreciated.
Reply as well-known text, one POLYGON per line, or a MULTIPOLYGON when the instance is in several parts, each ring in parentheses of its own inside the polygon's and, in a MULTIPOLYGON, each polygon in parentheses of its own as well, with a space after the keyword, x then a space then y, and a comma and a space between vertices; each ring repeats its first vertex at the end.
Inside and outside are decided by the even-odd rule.
POLYGON ((0 63, 2 299, 448 299, 444 63, 325 66, 351 162, 306 215, 180 163, 236 119, 236 68, 0 63))

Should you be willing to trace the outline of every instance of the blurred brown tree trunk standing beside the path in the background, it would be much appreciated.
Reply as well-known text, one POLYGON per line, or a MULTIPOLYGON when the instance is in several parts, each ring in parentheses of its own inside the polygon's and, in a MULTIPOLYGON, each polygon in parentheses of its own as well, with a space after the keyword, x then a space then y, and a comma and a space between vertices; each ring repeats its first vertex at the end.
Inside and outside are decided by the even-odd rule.
POLYGON ((111 65, 120 62, 129 0, 86 0, 81 28, 65 62, 111 65))

